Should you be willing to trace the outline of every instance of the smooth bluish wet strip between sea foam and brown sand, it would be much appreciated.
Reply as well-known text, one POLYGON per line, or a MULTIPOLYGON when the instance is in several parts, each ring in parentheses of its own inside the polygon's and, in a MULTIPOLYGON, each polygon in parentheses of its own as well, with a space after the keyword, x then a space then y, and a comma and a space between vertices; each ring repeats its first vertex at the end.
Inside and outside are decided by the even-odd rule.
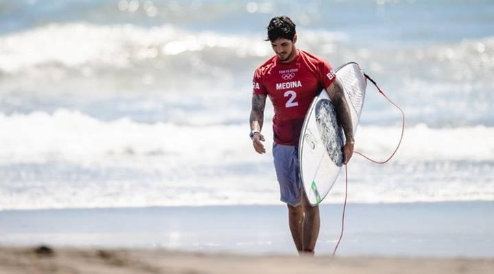
MULTIPOLYGON (((330 256, 342 205, 320 206, 316 253, 330 256)), ((494 202, 356 204, 337 256, 494 258, 494 202)), ((296 255, 286 206, 0 211, 0 246, 296 255)))

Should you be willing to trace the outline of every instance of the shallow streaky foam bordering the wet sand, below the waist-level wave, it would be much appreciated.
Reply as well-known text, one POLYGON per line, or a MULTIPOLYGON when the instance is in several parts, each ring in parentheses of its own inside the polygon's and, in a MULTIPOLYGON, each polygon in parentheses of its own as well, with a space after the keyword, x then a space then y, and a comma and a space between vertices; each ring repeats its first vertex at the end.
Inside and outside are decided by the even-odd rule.
MULTIPOLYGON (((50 162, 0 166, 0 210, 281 204, 270 155, 257 157, 257 166, 240 163, 243 169, 228 162, 173 161, 134 158, 122 169, 50 162)), ((377 166, 355 158, 349 165, 349 202, 493 201, 493 171, 492 162, 377 166)), ((340 174, 324 203, 343 198, 340 174)))

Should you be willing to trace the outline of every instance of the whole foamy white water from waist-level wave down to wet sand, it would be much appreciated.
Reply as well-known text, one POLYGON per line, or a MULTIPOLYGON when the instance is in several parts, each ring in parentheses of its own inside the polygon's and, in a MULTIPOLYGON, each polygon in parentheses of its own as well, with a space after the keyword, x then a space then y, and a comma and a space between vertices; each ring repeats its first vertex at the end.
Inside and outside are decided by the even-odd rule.
MULTIPOLYGON (((99 121, 58 110, 1 114, 0 127, 3 209, 279 203, 270 123, 266 155, 253 151, 247 124, 99 121)), ((384 160, 400 132, 361 126, 356 149, 384 160)), ((389 164, 354 155, 350 201, 492 200, 493 134, 484 126, 407 127, 389 164)), ((325 202, 342 201, 343 180, 340 175, 325 202)))

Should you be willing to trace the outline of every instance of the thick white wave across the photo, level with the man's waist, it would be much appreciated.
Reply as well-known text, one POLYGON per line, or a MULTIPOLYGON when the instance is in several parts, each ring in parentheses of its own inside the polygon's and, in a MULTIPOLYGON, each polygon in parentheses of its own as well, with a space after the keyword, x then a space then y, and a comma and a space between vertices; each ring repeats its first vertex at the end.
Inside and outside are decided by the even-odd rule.
MULTIPOLYGON (((270 122, 264 131, 270 145, 270 122)), ((53 114, 0 115, 0 159, 4 163, 34 160, 132 158, 152 156, 176 161, 220 163, 255 159, 247 123, 180 125, 138 123, 130 119, 99 121, 71 110, 53 114)), ((362 125, 357 130, 355 149, 384 159, 397 145, 401 128, 362 125)), ((494 127, 431 128, 418 124, 405 129, 397 160, 494 160, 494 127)))

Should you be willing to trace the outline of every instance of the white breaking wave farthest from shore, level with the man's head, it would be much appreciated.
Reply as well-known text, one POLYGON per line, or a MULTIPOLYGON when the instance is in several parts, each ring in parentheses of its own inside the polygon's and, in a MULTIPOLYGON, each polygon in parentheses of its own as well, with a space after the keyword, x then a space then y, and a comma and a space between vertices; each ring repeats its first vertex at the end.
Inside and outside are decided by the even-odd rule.
MULTIPOLYGON (((403 64, 417 66, 416 73, 448 79, 474 79, 494 67, 494 38, 463 40, 453 44, 415 45, 382 51, 380 47, 357 47, 347 34, 325 29, 301 29, 298 45, 329 58, 334 64, 355 60, 369 62, 367 66, 381 73, 389 57, 397 68, 403 64), (384 62, 384 64, 379 64, 384 62), (428 66, 423 66, 428 63, 428 66), (446 73, 437 66, 445 69, 446 73), (467 68, 467 70, 465 70, 467 68)), ((209 65, 239 66, 231 60, 262 60, 272 55, 263 34, 222 34, 220 32, 191 32, 174 25, 139 27, 137 25, 94 25, 91 23, 50 23, 48 25, 0 36, 0 71, 25 73, 38 66, 59 64, 67 68, 84 69, 108 67, 126 69, 148 62, 150 68, 174 63, 180 55, 183 64, 193 67, 209 65), (29 53, 29 54, 26 54, 29 53), (186 56, 183 53, 187 53, 186 56), (192 58, 195 57, 195 58, 192 58), (219 58, 221 57, 221 58, 219 58), (232 64, 233 63, 233 64, 232 64)), ((172 65, 172 64, 171 64, 172 65)), ((173 64, 176 65, 176 64, 173 64)), ((252 69, 252 68, 249 68, 252 69)))

